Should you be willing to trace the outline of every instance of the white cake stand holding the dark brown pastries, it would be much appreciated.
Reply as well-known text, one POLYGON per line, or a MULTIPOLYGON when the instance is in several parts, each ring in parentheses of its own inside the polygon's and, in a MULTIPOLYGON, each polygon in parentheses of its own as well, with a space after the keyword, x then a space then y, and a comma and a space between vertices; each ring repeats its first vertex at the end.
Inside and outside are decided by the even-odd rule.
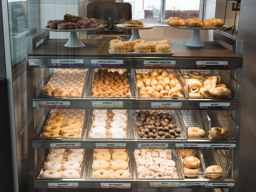
POLYGON ((45 29, 48 31, 55 32, 70 32, 68 42, 64 45, 65 47, 84 47, 85 45, 79 40, 77 32, 80 31, 93 31, 101 28, 103 25, 99 24, 98 27, 87 28, 87 29, 51 29, 48 26, 45 26, 45 29))

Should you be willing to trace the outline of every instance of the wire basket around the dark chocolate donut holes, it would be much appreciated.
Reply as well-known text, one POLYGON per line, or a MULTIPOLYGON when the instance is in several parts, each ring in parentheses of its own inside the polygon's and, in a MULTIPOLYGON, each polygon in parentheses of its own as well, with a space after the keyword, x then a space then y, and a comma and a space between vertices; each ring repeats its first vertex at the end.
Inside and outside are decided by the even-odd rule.
MULTIPOLYGON (((139 139, 139 140, 152 140, 152 141, 154 141, 154 140, 176 140, 176 139, 148 139, 148 138, 140 138, 140 136, 139 136, 139 129, 136 126, 136 123, 138 121, 137 121, 137 118, 134 116, 134 113, 135 112, 139 112, 139 111, 140 110, 133 110, 132 111, 133 118, 134 118, 134 128, 135 128, 136 139, 139 139)), ((158 111, 161 113, 163 110, 158 110, 158 111)), ((181 114, 180 110, 168 110, 168 111, 173 116, 173 118, 176 120, 177 127, 181 128, 180 139, 177 139, 177 140, 186 140, 187 139, 187 130, 184 127, 184 124, 181 123, 183 121, 183 118, 182 118, 182 114, 181 114)))

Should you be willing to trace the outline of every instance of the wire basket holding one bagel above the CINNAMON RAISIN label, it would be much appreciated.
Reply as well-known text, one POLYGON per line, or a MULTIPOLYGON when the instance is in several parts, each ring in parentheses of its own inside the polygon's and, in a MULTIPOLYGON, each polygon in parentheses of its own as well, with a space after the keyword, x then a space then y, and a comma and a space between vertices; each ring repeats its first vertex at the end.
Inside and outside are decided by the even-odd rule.
MULTIPOLYGON (((231 111, 228 110, 207 110, 208 116, 211 119, 211 128, 212 127, 222 127, 229 131, 229 138, 234 139, 238 130, 238 126, 234 121, 234 118, 231 116, 231 111)), ((213 138, 212 136, 212 139, 213 138)), ((222 139, 221 140, 226 140, 222 139)))

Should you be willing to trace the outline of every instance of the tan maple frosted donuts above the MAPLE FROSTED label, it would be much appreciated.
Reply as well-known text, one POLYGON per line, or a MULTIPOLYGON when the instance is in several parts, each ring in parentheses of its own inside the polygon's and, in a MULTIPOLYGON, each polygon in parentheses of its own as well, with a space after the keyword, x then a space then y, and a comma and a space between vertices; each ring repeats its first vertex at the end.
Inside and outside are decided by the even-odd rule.
MULTIPOLYGON (((42 130, 41 137, 68 137, 80 138, 82 123, 79 120, 72 119, 65 123, 63 126, 64 116, 61 113, 53 112, 47 117, 47 121, 42 130)), ((57 138, 61 139, 61 138, 57 138)))

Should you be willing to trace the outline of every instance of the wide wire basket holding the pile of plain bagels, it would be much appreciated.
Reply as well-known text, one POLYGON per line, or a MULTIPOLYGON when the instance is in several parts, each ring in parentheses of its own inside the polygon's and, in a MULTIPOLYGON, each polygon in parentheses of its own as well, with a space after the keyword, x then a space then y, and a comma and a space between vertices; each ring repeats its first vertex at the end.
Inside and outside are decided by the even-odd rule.
MULTIPOLYGON (((183 74, 188 74, 188 72, 191 71, 189 69, 180 69, 180 72, 182 74, 182 77, 184 78, 183 74)), ((231 97, 229 98, 221 98, 221 99, 235 99, 237 97, 238 89, 239 89, 239 84, 236 82, 236 79, 234 79, 226 70, 210 70, 210 69, 205 69, 205 70, 193 70, 202 73, 204 76, 216 76, 219 75, 222 78, 222 83, 227 86, 227 88, 231 91, 231 97)), ((185 79, 185 78, 184 78, 185 79)), ((187 80, 185 79, 186 84, 184 90, 188 91, 187 95, 188 98, 194 99, 194 98, 200 98, 200 99, 216 99, 216 97, 189 97, 189 84, 187 80)))

